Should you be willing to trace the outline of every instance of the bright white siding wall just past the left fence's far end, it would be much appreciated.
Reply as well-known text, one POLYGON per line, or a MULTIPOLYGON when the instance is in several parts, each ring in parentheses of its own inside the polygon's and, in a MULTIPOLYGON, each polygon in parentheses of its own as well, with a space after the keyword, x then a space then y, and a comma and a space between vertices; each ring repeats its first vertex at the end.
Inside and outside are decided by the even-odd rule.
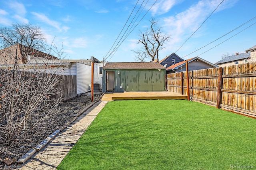
POLYGON ((77 94, 86 93, 91 89, 91 66, 76 63, 77 94))

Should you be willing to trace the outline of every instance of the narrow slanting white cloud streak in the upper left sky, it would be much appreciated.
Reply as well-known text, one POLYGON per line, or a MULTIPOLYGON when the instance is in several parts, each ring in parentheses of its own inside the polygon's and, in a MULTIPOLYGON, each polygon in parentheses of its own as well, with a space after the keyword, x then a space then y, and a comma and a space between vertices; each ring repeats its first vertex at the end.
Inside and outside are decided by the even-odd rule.
POLYGON ((38 18, 38 20, 40 20, 41 22, 44 22, 56 29, 58 29, 60 32, 64 31, 66 32, 69 28, 66 26, 62 26, 59 22, 56 22, 54 20, 50 20, 46 15, 44 14, 38 14, 37 12, 31 12, 31 14, 33 14, 34 16, 36 16, 38 18))

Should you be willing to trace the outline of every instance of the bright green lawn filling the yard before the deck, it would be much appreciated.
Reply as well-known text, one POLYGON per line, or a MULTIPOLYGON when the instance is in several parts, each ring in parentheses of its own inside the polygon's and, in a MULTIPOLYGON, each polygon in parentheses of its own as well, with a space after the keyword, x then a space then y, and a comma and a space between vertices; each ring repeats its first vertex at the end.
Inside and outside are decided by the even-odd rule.
POLYGON ((112 101, 58 166, 82 169, 256 168, 256 120, 186 100, 112 101))

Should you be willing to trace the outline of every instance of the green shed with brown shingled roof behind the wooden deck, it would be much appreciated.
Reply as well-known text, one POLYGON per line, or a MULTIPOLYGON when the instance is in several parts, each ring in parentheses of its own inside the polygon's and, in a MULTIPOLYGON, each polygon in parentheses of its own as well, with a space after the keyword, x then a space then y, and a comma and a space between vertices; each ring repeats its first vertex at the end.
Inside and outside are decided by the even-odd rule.
POLYGON ((102 92, 165 91, 166 67, 156 62, 106 63, 102 92))

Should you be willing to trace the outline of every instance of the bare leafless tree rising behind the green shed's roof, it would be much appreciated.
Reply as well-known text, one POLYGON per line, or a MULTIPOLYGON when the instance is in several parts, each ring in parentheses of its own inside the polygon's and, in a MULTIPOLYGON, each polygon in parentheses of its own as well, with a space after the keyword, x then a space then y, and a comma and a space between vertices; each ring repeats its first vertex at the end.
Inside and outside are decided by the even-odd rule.
POLYGON ((158 20, 151 18, 149 22, 151 24, 150 28, 146 29, 144 33, 140 31, 139 34, 140 40, 138 43, 143 44, 142 49, 134 51, 137 54, 136 59, 138 60, 140 60, 141 55, 146 54, 151 61, 154 61, 157 51, 159 52, 161 49, 163 49, 164 42, 170 39, 170 35, 164 34, 161 31, 162 28, 157 26, 158 20))

